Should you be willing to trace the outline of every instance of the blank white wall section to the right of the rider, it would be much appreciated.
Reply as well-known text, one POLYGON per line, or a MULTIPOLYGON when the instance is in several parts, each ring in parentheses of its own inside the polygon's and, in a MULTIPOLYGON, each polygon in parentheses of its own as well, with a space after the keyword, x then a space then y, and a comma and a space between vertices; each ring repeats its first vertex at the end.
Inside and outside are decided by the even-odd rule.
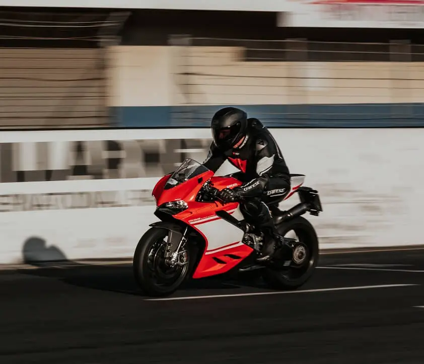
POLYGON ((422 244, 424 129, 280 129, 293 173, 316 188, 323 248, 422 244))

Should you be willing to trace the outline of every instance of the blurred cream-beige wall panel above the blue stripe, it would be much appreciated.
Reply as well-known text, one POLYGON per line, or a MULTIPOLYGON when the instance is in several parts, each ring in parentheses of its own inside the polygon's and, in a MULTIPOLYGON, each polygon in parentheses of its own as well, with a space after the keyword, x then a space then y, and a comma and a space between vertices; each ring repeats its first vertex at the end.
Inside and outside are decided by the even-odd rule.
POLYGON ((237 47, 118 46, 111 54, 112 106, 416 103, 424 98, 422 62, 244 62, 237 47))

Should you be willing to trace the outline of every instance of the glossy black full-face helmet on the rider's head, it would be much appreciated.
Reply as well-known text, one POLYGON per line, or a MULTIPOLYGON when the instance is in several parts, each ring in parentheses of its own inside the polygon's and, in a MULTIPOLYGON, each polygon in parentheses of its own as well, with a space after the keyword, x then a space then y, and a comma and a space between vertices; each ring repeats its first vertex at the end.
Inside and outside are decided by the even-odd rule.
POLYGON ((218 147, 232 148, 246 135, 247 114, 232 107, 221 109, 212 118, 210 128, 218 147))

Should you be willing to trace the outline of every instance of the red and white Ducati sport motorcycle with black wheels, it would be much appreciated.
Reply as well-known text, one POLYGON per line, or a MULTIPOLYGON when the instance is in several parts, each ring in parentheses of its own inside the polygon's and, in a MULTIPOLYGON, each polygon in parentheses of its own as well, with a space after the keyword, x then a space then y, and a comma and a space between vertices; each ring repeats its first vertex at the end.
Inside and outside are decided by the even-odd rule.
POLYGON ((255 271, 274 289, 301 287, 311 277, 319 255, 318 237, 301 215, 322 212, 316 190, 303 187, 305 175, 291 174, 291 191, 300 203, 287 211, 270 206, 283 241, 266 262, 256 257, 263 234, 246 222, 238 202, 225 203, 220 193, 242 185, 231 175, 215 176, 197 161, 187 158, 153 189, 154 215, 160 221, 140 238, 133 256, 133 274, 149 296, 168 296, 186 279, 201 279, 236 270, 255 271), (296 238, 286 235, 293 231, 296 238))

